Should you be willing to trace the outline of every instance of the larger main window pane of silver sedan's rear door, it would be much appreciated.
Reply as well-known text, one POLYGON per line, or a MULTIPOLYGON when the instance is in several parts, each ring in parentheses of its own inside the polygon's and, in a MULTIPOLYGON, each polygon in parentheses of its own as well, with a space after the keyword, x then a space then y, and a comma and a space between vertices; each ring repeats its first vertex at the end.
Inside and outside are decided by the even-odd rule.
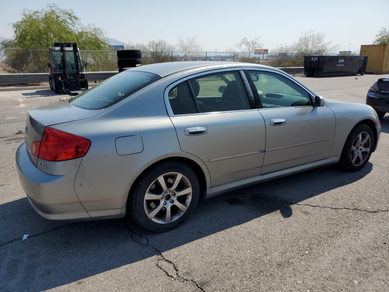
POLYGON ((250 109, 238 72, 220 72, 190 80, 200 113, 250 109))

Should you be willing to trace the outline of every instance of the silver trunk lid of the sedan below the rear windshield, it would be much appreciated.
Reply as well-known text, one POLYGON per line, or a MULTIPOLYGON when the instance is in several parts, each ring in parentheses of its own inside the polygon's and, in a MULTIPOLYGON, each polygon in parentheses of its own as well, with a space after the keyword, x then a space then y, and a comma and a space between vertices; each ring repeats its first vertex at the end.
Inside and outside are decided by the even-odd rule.
POLYGON ((37 165, 38 157, 31 152, 32 142, 41 141, 47 126, 84 120, 97 116, 103 109, 81 109, 69 102, 58 102, 47 106, 30 109, 26 119, 26 147, 33 164, 37 165))

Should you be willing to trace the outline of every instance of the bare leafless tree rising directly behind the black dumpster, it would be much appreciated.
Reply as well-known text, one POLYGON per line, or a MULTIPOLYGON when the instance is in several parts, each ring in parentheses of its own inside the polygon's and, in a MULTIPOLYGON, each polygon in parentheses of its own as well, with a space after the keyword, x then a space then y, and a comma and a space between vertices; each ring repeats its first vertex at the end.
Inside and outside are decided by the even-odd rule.
POLYGON ((339 49, 339 45, 327 41, 325 33, 306 30, 293 42, 293 49, 296 53, 325 54, 335 53, 339 49))

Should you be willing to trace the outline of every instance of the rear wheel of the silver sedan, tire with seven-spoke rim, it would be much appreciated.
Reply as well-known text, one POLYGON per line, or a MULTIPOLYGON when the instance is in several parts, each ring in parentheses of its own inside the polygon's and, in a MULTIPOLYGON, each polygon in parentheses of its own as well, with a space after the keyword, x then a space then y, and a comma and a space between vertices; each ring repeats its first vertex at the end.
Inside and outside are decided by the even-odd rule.
POLYGON ((154 232, 172 230, 195 211, 199 197, 200 186, 195 172, 181 162, 164 162, 149 169, 135 182, 127 200, 127 218, 154 232), (179 174, 182 176, 174 188, 173 183, 179 174), (170 189, 163 190, 159 183, 161 177, 170 189), (177 196, 178 192, 189 190, 189 187, 191 192, 177 196), (146 193, 157 194, 156 199, 154 195, 149 195, 152 199, 146 199, 146 193), (170 210, 170 216, 167 216, 167 210, 170 210))

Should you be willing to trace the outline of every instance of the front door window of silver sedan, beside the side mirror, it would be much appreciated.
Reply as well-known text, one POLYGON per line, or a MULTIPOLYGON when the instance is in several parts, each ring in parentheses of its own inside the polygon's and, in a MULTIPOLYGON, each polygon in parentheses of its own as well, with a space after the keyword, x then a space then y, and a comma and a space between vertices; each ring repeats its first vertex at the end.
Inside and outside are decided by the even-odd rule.
POLYGON ((307 91, 273 72, 249 71, 264 108, 311 106, 307 91))

